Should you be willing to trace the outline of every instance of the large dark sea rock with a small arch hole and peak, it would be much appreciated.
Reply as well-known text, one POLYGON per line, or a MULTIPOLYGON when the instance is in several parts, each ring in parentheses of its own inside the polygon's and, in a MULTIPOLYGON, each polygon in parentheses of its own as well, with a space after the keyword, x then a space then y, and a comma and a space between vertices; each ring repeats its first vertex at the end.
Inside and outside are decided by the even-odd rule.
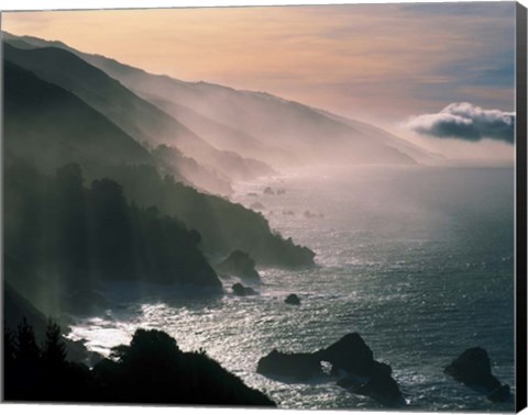
POLYGON ((258 360, 256 371, 267 377, 308 380, 326 375, 321 362, 330 363, 330 375, 338 377, 338 385, 352 393, 370 396, 384 405, 404 403, 392 368, 374 360, 372 350, 358 333, 348 334, 312 354, 273 350, 258 360))

